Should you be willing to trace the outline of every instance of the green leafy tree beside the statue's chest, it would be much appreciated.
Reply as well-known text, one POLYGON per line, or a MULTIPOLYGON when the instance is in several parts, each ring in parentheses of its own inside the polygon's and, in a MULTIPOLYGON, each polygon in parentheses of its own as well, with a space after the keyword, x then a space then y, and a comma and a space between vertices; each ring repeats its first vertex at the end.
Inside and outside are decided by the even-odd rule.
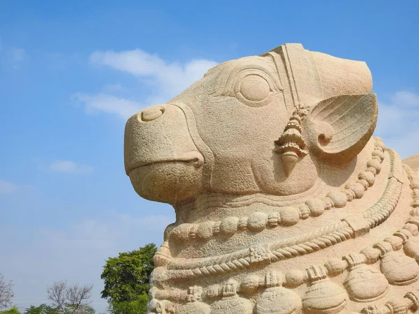
POLYGON ((108 258, 101 274, 105 283, 101 297, 108 299, 111 313, 145 313, 156 249, 155 244, 147 244, 139 250, 108 258))

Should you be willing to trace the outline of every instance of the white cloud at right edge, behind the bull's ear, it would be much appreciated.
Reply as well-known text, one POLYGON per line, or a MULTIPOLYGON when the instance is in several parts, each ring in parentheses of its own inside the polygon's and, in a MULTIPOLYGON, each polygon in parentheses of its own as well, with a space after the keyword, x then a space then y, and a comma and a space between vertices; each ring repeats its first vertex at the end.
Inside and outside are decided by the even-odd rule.
POLYGON ((398 91, 389 103, 380 102, 375 135, 402 158, 419 153, 419 95, 398 91))

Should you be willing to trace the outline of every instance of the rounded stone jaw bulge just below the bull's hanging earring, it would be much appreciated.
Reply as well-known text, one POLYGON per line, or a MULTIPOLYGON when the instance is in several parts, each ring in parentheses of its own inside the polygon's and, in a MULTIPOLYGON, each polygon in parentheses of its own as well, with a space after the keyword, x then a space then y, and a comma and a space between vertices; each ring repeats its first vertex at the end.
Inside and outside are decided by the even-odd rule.
POLYGON ((316 165, 309 155, 298 160, 288 177, 284 173, 281 155, 277 153, 265 158, 256 156, 251 162, 251 167, 260 190, 274 195, 295 195, 305 192, 318 180, 316 165))

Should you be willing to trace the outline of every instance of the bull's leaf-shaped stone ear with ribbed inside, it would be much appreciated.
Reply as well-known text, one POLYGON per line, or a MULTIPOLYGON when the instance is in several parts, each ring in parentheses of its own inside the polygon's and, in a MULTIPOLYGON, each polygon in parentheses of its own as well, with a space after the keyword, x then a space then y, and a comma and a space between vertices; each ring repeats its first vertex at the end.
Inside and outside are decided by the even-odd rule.
POLYGON ((378 117, 376 94, 322 100, 306 117, 309 149, 331 163, 348 163, 372 137, 378 117))

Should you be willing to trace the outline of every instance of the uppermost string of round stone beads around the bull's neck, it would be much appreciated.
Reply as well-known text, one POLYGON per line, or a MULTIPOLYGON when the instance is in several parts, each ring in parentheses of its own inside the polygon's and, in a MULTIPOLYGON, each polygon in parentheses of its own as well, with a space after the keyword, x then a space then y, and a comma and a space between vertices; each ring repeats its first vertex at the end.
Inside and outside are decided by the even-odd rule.
MULTIPOLYGON (((321 216, 325 210, 345 207, 347 202, 364 196, 365 191, 374 185, 375 176, 381 170, 385 147, 378 137, 374 140, 375 148, 372 151, 372 159, 367 162, 367 170, 358 174, 358 181, 346 184, 344 190, 332 191, 325 197, 312 198, 295 207, 281 207, 270 214, 256 211, 249 217, 230 216, 221 221, 207 221, 200 224, 182 223, 168 232, 169 237, 177 241, 188 241, 189 239, 210 239, 216 235, 230 237, 240 230, 260 232, 267 227, 295 225, 300 219, 321 216)), ((379 210, 379 205, 377 204, 375 208, 379 210)), ((382 222, 383 218, 380 217, 372 217, 372 221, 376 220, 372 225, 376 226, 379 224, 378 221, 382 222)))

